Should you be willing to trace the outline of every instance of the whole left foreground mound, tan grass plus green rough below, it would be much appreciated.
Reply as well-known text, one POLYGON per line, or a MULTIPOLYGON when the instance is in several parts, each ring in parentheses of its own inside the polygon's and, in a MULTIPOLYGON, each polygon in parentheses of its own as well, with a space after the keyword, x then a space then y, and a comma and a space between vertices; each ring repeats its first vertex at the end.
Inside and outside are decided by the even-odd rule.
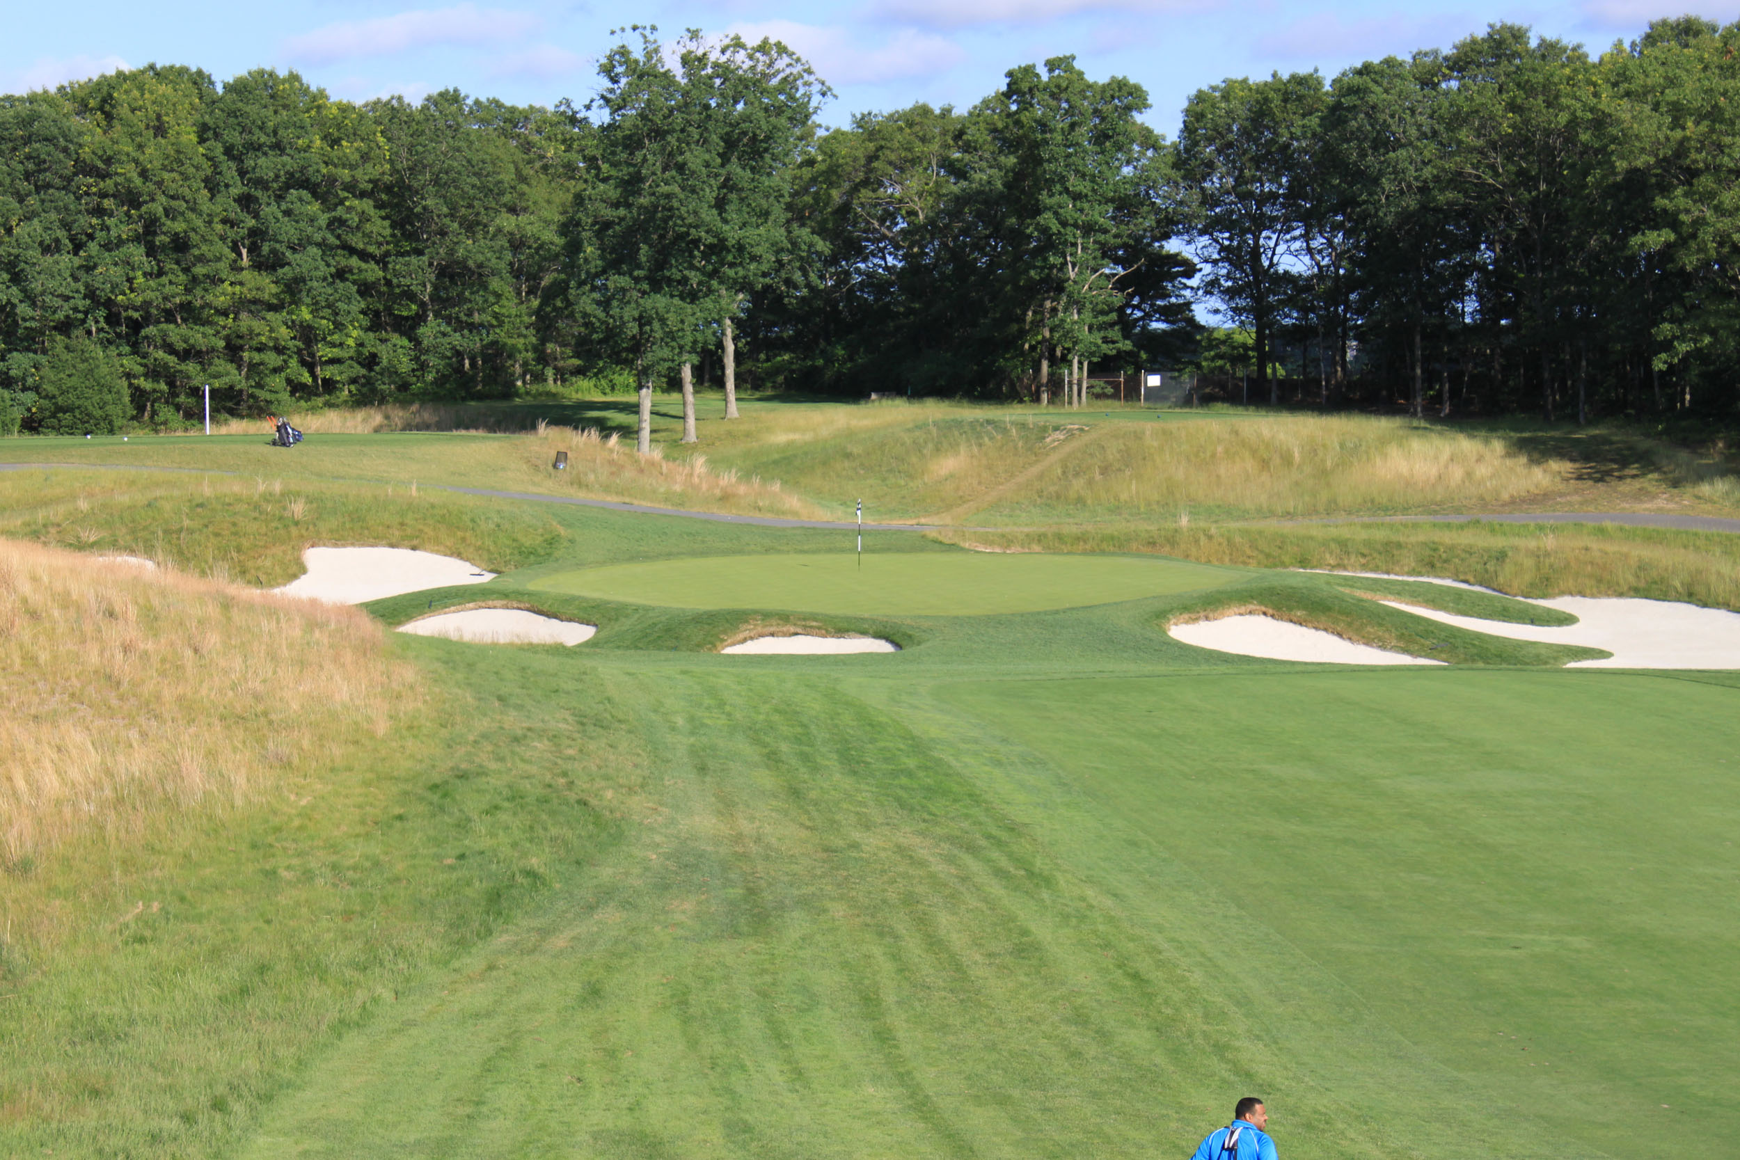
POLYGON ((407 643, 0 541, 0 1153, 230 1155, 614 840, 642 774, 607 694, 522 717, 407 643))

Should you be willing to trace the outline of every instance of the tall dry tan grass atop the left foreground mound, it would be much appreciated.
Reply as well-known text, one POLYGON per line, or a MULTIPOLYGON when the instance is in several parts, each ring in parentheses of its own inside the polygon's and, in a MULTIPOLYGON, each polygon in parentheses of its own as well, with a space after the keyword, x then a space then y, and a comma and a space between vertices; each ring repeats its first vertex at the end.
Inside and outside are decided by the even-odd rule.
POLYGON ((0 861, 259 798, 418 699, 355 609, 0 539, 0 861))

